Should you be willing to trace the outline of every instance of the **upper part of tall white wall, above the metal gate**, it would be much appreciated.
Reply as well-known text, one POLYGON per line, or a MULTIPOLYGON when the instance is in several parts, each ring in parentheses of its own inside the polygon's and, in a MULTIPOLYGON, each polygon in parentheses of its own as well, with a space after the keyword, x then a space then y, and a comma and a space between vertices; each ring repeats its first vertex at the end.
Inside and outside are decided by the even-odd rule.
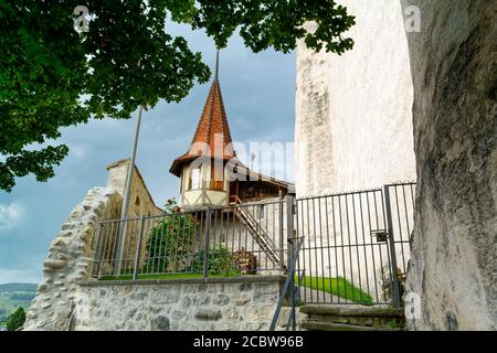
MULTIPOLYGON (((357 24, 341 56, 299 43, 297 195, 415 180, 413 87, 399 0, 342 0, 357 24)), ((313 25, 313 24, 308 24, 313 25)))

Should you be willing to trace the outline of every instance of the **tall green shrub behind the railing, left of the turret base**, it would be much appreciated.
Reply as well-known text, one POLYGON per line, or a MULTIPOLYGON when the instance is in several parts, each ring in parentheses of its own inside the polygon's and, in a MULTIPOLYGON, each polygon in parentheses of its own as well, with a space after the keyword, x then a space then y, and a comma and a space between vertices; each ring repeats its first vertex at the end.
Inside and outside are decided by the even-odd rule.
POLYGON ((168 200, 165 212, 165 221, 150 231, 146 245, 148 260, 141 272, 182 270, 191 255, 195 220, 181 213, 173 199, 168 200))

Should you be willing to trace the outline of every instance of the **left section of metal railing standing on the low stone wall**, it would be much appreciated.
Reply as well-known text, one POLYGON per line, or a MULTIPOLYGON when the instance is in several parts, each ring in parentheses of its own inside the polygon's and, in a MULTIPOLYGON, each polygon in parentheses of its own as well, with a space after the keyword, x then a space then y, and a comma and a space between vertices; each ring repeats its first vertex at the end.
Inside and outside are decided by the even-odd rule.
POLYGON ((92 275, 137 279, 282 272, 284 207, 285 201, 278 200, 102 222, 92 244, 92 275), (124 245, 118 259, 120 233, 124 245))

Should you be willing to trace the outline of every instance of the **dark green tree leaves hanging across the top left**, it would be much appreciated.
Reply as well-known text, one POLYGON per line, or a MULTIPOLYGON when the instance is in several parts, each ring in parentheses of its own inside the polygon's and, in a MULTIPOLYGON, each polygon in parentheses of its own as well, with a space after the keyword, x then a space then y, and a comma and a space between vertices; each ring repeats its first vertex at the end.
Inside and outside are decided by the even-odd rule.
POLYGON ((0 0, 0 190, 30 173, 39 181, 54 175, 68 152, 53 145, 61 128, 180 101, 209 79, 201 54, 165 23, 203 30, 218 47, 240 29, 254 52, 287 53, 297 39, 338 54, 353 44, 342 36, 353 17, 332 0, 88 0, 89 31, 77 33, 80 4, 0 0))

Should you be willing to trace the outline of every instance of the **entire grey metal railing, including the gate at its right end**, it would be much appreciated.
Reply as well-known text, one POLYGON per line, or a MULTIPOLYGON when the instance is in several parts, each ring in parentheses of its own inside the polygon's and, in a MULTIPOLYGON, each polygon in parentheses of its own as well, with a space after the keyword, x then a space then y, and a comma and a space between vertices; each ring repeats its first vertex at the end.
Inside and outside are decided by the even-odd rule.
POLYGON ((410 256, 414 194, 415 183, 398 183, 107 221, 96 228, 92 243, 92 275, 207 280, 286 272, 283 298, 290 300, 293 328, 296 301, 399 307, 410 256), (124 234, 124 250, 117 264, 119 234, 124 234), (299 239, 298 252, 294 239, 299 239))

